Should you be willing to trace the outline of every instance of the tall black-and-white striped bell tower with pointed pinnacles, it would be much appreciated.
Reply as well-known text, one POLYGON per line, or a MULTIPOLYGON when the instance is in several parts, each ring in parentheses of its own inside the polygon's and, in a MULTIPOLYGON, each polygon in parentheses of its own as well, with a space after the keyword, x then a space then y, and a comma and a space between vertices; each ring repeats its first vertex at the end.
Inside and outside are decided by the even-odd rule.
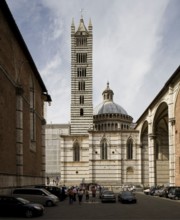
POLYGON ((79 27, 71 25, 71 134, 87 134, 93 123, 92 24, 81 16, 79 27))

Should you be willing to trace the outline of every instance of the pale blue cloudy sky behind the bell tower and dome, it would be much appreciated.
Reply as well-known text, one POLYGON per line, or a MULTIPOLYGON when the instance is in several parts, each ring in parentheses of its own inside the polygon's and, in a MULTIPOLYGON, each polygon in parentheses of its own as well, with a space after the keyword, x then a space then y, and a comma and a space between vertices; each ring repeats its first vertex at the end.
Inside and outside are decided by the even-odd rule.
POLYGON ((6 0, 51 95, 46 121, 70 122, 71 38, 93 25, 93 107, 107 82, 114 102, 143 114, 180 65, 179 0, 6 0))

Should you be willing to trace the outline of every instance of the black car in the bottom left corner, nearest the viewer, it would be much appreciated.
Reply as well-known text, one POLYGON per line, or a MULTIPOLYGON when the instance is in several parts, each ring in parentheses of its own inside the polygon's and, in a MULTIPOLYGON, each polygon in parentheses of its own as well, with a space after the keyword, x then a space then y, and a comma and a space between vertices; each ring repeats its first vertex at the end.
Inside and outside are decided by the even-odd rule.
POLYGON ((37 203, 31 203, 23 198, 1 195, 0 210, 1 216, 22 216, 31 218, 43 215, 44 206, 37 203))

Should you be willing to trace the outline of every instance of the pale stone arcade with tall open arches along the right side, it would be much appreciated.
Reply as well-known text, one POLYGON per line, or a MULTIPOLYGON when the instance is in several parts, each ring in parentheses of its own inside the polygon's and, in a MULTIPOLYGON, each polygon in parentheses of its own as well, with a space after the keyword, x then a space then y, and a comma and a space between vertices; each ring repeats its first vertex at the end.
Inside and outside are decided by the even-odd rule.
POLYGON ((138 119, 135 127, 140 131, 142 183, 143 173, 148 170, 150 185, 180 185, 179 108, 180 66, 138 119))

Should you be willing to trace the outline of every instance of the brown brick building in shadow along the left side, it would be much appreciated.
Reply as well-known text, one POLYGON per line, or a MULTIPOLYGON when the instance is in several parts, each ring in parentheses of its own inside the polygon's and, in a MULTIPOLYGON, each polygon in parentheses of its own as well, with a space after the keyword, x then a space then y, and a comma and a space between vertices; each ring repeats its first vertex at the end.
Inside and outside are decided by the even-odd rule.
POLYGON ((44 183, 44 102, 51 101, 4 0, 0 1, 0 192, 44 183))

